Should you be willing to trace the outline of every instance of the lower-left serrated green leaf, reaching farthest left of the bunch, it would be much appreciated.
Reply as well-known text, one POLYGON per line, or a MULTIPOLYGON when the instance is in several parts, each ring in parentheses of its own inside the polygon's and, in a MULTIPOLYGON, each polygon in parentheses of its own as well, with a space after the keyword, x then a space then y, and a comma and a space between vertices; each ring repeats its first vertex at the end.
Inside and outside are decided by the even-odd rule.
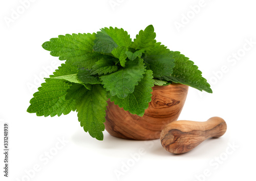
POLYGON ((47 79, 33 94, 30 100, 29 113, 36 113, 37 116, 60 116, 75 111, 75 100, 66 100, 65 96, 71 84, 62 80, 47 79))

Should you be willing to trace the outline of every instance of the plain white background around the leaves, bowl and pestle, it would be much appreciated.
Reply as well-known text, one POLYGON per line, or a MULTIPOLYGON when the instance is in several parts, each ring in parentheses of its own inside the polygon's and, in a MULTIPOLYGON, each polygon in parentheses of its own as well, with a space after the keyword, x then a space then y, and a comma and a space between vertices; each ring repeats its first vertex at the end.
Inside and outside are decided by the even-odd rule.
MULTIPOLYGON (((6 180, 255 180, 254 1, 113 0, 118 4, 114 7, 109 0, 31 0, 22 5, 24 1, 0 5, 1 149, 3 122, 10 125, 6 180), (135 38, 149 24, 155 27, 157 41, 199 66, 214 92, 190 88, 179 120, 220 116, 228 126, 223 137, 174 155, 159 140, 122 140, 107 132, 103 141, 93 139, 80 127, 75 112, 46 118, 26 112, 44 82, 41 76, 57 68, 52 66, 56 62, 61 64, 42 43, 58 35, 93 33, 110 26, 135 38), (59 144, 62 139, 67 143, 59 144), (139 150, 144 152, 138 157, 139 150), (54 154, 50 153, 51 159, 46 155, 49 151, 54 154), (124 166, 127 163, 129 167, 124 166)), ((0 180, 5 179, 3 159, 1 153, 0 180)))

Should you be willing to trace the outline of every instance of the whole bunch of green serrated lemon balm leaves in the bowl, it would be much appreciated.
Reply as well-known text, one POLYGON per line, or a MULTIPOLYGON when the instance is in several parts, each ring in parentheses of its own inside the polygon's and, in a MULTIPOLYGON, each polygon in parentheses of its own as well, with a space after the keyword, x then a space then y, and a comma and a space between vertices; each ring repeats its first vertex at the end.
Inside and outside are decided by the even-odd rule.
POLYGON ((154 85, 180 83, 212 92, 194 62, 155 38, 149 25, 134 41, 123 29, 112 27, 50 39, 42 47, 66 62, 41 84, 27 111, 37 116, 76 111, 84 131, 103 140, 109 98, 125 111, 143 116, 154 85))

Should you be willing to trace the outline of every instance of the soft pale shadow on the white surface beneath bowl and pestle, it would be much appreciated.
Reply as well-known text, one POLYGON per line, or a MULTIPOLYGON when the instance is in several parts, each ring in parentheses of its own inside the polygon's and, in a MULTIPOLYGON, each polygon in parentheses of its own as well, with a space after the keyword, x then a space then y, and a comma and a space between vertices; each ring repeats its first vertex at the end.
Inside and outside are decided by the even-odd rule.
MULTIPOLYGON (((216 155, 226 150, 228 146, 229 138, 210 138, 199 144, 196 148, 191 151, 182 154, 174 154, 166 151, 160 140, 126 140, 111 136, 108 132, 104 131, 104 140, 99 141, 92 138, 89 134, 84 134, 83 131, 77 131, 72 136, 71 140, 77 146, 83 148, 89 148, 95 151, 104 152, 106 156, 111 157, 122 157, 127 156, 130 153, 137 152, 140 148, 157 157, 169 157, 183 159, 208 159, 214 158, 216 155)), ((183 160, 182 159, 182 160, 183 160)))

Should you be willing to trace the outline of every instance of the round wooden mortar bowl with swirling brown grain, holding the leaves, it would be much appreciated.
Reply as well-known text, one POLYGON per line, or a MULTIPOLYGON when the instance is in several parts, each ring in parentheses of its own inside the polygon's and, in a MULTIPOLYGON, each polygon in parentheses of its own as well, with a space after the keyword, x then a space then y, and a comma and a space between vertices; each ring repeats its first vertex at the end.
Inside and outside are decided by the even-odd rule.
POLYGON ((154 86, 152 101, 142 117, 124 111, 114 102, 108 101, 105 129, 112 136, 123 139, 159 139, 163 127, 178 119, 187 91, 188 86, 182 84, 154 86))

